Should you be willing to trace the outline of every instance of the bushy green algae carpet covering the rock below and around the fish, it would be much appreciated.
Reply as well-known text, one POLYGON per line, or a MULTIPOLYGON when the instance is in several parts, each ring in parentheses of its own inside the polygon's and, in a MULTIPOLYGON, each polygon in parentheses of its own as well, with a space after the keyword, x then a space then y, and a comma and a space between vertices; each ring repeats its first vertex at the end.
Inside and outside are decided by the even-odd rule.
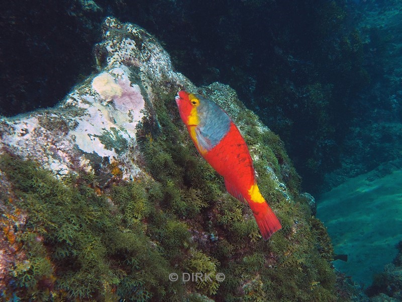
POLYGON ((336 300, 331 242, 307 201, 293 199, 299 178, 280 139, 257 131, 255 116, 241 111, 240 122, 250 119, 245 139, 258 152, 259 187, 282 223, 265 242, 249 207, 229 196, 222 178, 196 153, 174 94, 159 95, 157 123, 144 121, 149 127, 138 131, 142 161, 153 180, 120 181, 99 192, 94 176, 57 180, 33 162, 1 158, 0 170, 18 197, 13 202, 28 214, 20 240, 30 265, 16 264, 18 296, 336 300), (272 173, 287 192, 278 189, 272 173), (35 241, 37 236, 43 240, 35 241), (41 268, 32 269, 34 264, 41 268), (169 281, 170 273, 196 272, 213 280, 169 281), (223 282, 213 278, 218 273, 225 274, 223 282), (42 280, 51 286, 43 288, 42 280))

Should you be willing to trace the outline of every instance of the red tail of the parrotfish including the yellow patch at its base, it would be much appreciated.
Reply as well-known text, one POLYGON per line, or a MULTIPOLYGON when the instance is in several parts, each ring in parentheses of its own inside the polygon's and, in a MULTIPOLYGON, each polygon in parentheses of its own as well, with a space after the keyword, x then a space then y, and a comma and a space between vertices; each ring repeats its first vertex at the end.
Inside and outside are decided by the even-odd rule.
POLYGON ((272 234, 280 230, 282 226, 264 197, 262 197, 257 185, 254 185, 250 189, 250 193, 251 198, 247 200, 248 204, 253 210, 255 221, 257 221, 262 238, 267 240, 272 234))

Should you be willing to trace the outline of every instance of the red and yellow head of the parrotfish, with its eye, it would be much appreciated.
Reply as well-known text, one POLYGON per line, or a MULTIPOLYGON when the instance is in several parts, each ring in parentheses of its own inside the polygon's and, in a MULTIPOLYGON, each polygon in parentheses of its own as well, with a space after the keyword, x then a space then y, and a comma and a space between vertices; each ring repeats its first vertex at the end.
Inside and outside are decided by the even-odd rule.
POLYGON ((180 90, 175 98, 180 117, 186 126, 197 126, 200 123, 198 109, 202 99, 197 95, 180 90))

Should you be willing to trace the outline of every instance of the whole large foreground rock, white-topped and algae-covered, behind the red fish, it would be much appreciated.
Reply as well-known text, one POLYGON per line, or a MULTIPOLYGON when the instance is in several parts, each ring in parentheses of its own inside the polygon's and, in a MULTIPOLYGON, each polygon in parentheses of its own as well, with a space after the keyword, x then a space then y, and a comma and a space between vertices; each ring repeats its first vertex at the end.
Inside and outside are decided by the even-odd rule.
POLYGON ((145 30, 108 18, 99 72, 54 108, 2 118, 0 289, 22 300, 337 300, 332 245, 280 138, 229 86, 196 88, 145 30), (196 153, 174 96, 202 93, 249 145, 282 223, 196 153))

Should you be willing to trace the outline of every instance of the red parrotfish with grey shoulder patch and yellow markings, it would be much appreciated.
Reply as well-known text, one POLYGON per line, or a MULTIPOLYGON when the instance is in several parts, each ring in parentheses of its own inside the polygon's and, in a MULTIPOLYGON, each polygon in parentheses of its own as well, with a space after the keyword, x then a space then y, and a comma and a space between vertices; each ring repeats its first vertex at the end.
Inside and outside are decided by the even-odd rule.
POLYGON ((223 176, 228 192, 250 205, 262 238, 267 240, 281 225, 258 189, 253 160, 236 125, 203 96, 179 91, 176 103, 199 154, 223 176))

